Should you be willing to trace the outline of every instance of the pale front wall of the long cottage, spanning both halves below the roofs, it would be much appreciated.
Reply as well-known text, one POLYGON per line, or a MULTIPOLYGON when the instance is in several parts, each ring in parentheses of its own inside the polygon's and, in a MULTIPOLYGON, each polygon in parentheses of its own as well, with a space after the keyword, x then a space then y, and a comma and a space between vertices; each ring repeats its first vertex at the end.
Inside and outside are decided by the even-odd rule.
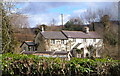
MULTIPOLYGON (((86 39, 85 42, 84 39, 80 38, 76 38, 76 42, 74 41, 74 38, 68 38, 67 40, 64 40, 64 44, 61 43, 62 40, 56 39, 55 44, 51 43, 51 41, 52 39, 45 39, 46 51, 71 51, 78 43, 80 43, 77 49, 84 48, 84 57, 86 57, 86 53, 90 54, 87 50, 87 46, 93 45, 96 48, 100 48, 103 43, 102 39, 96 39, 95 42, 94 39, 86 39)), ((99 51, 99 49, 96 50, 96 57, 100 57, 99 51)))

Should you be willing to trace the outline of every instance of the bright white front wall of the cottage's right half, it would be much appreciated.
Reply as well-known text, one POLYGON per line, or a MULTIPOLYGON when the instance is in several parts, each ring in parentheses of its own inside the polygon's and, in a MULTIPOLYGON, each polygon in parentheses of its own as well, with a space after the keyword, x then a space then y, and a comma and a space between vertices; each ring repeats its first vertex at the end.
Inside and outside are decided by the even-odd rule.
POLYGON ((81 48, 84 48, 84 57, 86 57, 86 53, 90 54, 89 51, 87 50, 87 47, 89 45, 93 45, 95 48, 98 48, 96 50, 96 57, 100 57, 100 53, 99 53, 99 48, 102 48, 102 45, 103 45, 103 39, 96 39, 96 41, 94 42, 94 39, 86 39, 86 42, 84 41, 84 39, 76 39, 76 42, 73 41, 72 38, 69 38, 67 40, 67 42, 71 41, 71 48, 66 50, 66 51, 69 51, 69 50, 72 50, 74 48, 75 45, 77 45, 78 43, 81 43, 77 49, 81 49, 81 48))

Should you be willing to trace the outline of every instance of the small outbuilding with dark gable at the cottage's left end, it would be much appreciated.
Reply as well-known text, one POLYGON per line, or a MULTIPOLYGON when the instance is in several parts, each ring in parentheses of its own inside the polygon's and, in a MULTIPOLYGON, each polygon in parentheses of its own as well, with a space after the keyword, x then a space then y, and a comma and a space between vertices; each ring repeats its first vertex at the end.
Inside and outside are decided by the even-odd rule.
POLYGON ((36 46, 33 41, 24 41, 20 47, 22 51, 35 51, 36 50, 36 46))

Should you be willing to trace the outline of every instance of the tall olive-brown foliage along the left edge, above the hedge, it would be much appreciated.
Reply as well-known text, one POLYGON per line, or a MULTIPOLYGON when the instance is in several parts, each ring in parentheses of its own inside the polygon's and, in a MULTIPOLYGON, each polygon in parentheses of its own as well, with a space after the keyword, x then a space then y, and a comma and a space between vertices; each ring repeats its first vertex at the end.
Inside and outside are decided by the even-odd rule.
MULTIPOLYGON (((5 7, 4 7, 5 8, 5 7)), ((17 44, 14 36, 12 25, 10 24, 10 18, 4 8, 2 10, 2 52, 13 52, 15 45, 17 44)))

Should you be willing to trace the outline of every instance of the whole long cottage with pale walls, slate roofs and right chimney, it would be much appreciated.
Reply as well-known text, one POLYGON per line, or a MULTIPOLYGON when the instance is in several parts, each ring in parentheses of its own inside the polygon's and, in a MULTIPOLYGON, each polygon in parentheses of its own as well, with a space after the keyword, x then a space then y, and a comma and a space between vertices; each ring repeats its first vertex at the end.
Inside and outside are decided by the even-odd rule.
POLYGON ((40 51, 69 51, 75 57, 75 49, 81 50, 77 57, 90 56, 88 47, 92 45, 96 49, 95 56, 100 57, 103 39, 85 27, 83 31, 42 31, 35 37, 35 44, 40 51))

